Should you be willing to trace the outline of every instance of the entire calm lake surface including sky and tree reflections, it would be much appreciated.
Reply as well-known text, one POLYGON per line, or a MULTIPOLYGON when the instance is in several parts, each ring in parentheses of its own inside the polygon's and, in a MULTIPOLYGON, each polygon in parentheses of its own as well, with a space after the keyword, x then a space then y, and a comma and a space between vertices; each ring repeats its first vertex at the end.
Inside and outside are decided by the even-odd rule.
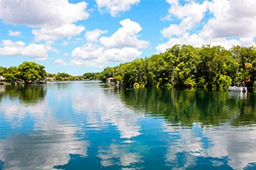
POLYGON ((0 169, 256 169, 256 93, 0 86, 0 169))

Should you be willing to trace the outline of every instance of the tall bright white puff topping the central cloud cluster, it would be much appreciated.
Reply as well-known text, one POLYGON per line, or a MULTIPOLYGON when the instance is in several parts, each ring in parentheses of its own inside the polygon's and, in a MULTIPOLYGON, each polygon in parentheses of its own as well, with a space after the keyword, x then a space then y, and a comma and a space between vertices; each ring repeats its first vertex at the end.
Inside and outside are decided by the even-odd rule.
POLYGON ((120 21, 119 28, 112 36, 103 36, 100 40, 105 47, 136 47, 144 48, 149 42, 138 39, 138 33, 142 30, 140 24, 130 19, 120 21))

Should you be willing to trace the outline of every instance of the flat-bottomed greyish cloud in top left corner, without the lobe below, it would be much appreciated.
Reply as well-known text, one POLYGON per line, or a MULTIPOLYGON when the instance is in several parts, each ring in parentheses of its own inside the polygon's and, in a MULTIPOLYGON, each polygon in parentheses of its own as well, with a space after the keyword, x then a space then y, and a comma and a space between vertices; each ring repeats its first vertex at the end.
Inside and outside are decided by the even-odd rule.
POLYGON ((59 27, 89 18, 86 2, 70 4, 67 0, 0 1, 4 23, 31 27, 59 27))

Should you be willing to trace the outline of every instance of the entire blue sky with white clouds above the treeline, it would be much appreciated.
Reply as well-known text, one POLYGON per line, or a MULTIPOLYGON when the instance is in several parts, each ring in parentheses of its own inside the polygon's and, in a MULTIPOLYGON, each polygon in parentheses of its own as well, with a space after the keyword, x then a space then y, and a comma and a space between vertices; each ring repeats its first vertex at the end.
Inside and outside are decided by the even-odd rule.
POLYGON ((102 72, 173 45, 256 44, 255 0, 0 0, 0 66, 102 72))

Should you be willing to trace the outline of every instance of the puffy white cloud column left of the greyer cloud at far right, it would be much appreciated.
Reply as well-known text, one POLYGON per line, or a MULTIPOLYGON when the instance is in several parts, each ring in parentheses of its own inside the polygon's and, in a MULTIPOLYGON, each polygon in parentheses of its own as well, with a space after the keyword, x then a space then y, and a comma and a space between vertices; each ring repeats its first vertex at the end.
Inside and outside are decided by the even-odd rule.
POLYGON ((167 0, 170 4, 167 15, 163 20, 173 20, 178 18, 180 23, 172 23, 167 28, 163 28, 161 34, 163 37, 169 38, 165 43, 159 44, 156 49, 157 53, 164 53, 167 48, 176 44, 203 45, 205 42, 198 34, 190 34, 200 26, 200 22, 205 18, 208 11, 208 1, 203 4, 189 1, 183 6, 176 0, 167 0))

